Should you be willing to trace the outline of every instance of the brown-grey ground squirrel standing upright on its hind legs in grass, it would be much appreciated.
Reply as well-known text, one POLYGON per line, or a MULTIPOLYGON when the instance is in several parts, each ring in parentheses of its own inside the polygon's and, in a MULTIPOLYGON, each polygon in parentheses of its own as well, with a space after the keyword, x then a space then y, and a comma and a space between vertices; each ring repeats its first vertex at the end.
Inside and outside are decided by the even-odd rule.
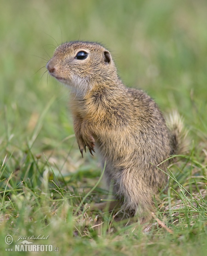
MULTIPOLYGON (((98 149, 105 177, 124 209, 149 219, 154 195, 167 175, 156 166, 178 154, 182 122, 171 130, 157 104, 145 92, 126 88, 107 49, 98 43, 69 42, 55 50, 49 74, 71 88, 70 109, 83 156, 98 149)), ((169 161, 159 165, 166 171, 169 161)))

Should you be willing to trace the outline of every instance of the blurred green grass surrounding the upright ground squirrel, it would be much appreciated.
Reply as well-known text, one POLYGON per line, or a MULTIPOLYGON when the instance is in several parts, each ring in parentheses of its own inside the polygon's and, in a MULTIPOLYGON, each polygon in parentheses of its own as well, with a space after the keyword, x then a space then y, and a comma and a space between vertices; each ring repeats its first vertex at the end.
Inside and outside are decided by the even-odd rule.
POLYGON ((61 255, 205 255, 206 1, 11 0, 1 7, 1 255, 15 245, 4 243, 7 234, 49 235, 40 244, 61 255), (97 156, 81 158, 68 90, 43 74, 55 47, 78 39, 108 47, 127 86, 148 92, 163 112, 177 109, 190 130, 189 153, 169 167, 159 221, 147 232, 126 225, 121 213, 87 207, 110 194, 97 184, 97 156))

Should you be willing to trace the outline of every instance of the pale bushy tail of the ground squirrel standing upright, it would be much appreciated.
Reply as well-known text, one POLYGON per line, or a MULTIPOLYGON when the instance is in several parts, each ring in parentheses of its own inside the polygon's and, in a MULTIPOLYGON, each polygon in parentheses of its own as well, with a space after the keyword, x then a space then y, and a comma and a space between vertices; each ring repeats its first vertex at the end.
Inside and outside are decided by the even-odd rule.
POLYGON ((174 111, 167 117, 166 121, 171 135, 171 155, 186 153, 189 149, 189 140, 187 138, 188 130, 184 127, 183 118, 177 111, 174 111))

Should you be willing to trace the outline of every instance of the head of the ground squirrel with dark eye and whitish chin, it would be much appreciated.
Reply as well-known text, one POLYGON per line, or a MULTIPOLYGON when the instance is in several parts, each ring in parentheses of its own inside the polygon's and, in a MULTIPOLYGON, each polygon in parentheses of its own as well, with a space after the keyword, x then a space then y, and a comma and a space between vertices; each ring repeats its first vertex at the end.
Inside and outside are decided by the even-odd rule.
POLYGON ((46 65, 49 74, 84 95, 94 85, 110 84, 117 76, 111 54, 91 42, 64 43, 56 49, 46 65))

